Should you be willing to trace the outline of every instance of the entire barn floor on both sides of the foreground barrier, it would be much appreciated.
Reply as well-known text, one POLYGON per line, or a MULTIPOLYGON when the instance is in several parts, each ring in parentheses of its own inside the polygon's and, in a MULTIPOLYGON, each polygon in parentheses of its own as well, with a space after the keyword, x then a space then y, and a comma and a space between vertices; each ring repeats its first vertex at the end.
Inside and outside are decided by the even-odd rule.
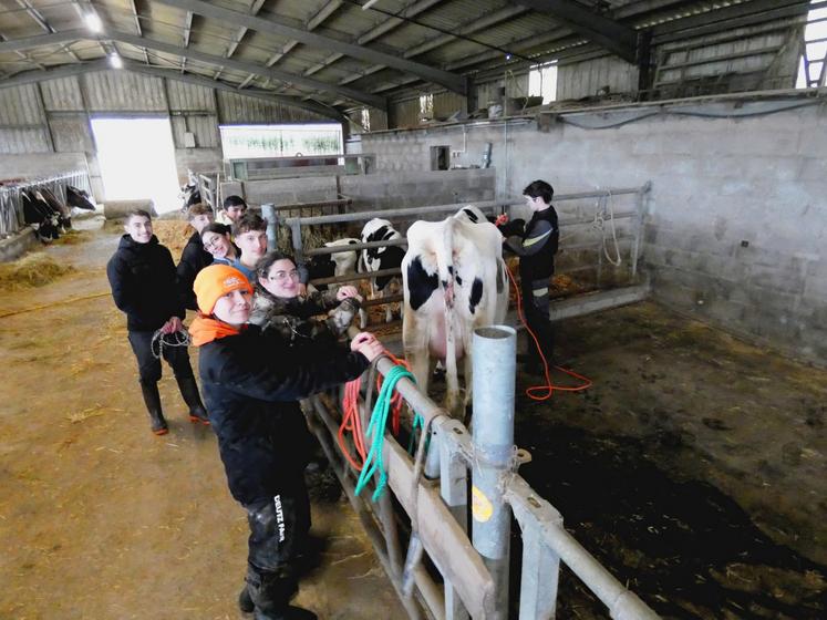
MULTIPOLYGON (((165 369, 170 433, 148 433, 107 294, 53 304, 108 291, 117 231, 85 235, 50 249, 76 273, 0 297, 44 306, 0 318, 0 618, 240 618, 246 523, 210 431, 165 369)), ((516 436, 587 548, 664 618, 827 617, 827 372, 653 303, 566 320, 558 350, 595 386, 538 404, 518 376, 516 436)), ((299 602, 403 618, 348 504, 313 517, 299 602)), ((566 571, 558 610, 607 617, 566 571)))

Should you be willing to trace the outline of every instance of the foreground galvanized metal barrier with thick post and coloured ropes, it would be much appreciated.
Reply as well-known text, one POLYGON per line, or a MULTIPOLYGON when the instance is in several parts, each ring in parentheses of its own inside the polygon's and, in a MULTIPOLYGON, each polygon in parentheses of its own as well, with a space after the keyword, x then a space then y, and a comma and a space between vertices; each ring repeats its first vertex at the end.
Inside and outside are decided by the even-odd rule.
MULTIPOLYGON (((424 420, 424 430, 415 458, 390 432, 384 434, 382 457, 387 486, 376 502, 371 500, 370 493, 355 494, 359 475, 337 447, 342 420, 338 406, 323 395, 306 403, 310 405, 306 406, 310 426, 409 618, 508 618, 513 514, 523 537, 519 600, 514 606, 520 620, 555 618, 560 562, 606 604, 611 618, 657 619, 566 531, 560 514, 516 473, 528 455, 514 446, 515 330, 500 326, 478 329, 473 349, 473 434, 422 394, 415 383, 409 379, 396 383, 404 401, 424 420), (406 552, 397 521, 410 523, 406 552)), ((394 364, 383 356, 375 368, 387 375, 394 364)), ((370 412, 364 401, 359 407, 362 428, 368 428, 370 412)), ((369 484, 363 490, 374 488, 369 484)))

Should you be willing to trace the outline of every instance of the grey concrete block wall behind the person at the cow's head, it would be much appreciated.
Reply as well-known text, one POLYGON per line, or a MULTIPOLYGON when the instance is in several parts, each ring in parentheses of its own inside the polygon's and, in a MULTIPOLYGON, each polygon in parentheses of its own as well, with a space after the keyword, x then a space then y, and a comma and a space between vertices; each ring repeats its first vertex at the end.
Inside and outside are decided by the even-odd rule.
MULTIPOLYGON (((694 110, 736 114, 742 103, 694 110)), ((654 297, 826 364, 827 113, 815 103, 741 118, 664 113, 607 130, 565 120, 611 122, 619 113, 579 112, 546 133, 533 121, 465 135, 462 127, 386 132, 363 135, 362 149, 380 161, 399 154, 421 169, 440 141, 465 144, 472 161, 490 142, 498 196, 518 195, 535 178, 558 194, 651 180, 642 259, 654 297)))

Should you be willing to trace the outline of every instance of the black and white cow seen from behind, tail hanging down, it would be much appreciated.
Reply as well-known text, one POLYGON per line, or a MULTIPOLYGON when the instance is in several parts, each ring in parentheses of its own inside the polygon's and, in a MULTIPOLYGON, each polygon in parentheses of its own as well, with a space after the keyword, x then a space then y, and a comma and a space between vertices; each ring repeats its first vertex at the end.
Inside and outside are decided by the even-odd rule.
POLYGON ((508 310, 503 237, 496 226, 475 223, 465 209, 443 221, 416 221, 407 230, 402 279, 405 359, 424 392, 431 360, 444 361, 445 407, 458 415, 457 361, 465 361, 467 405, 474 330, 503 322, 508 310))

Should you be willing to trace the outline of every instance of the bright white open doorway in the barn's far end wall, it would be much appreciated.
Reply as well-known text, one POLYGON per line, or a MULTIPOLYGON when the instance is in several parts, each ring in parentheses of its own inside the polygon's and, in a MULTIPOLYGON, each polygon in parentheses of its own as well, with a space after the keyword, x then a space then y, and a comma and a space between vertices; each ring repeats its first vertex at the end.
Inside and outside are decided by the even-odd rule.
POLYGON ((180 208, 169 118, 92 118, 106 200, 152 199, 180 208))

